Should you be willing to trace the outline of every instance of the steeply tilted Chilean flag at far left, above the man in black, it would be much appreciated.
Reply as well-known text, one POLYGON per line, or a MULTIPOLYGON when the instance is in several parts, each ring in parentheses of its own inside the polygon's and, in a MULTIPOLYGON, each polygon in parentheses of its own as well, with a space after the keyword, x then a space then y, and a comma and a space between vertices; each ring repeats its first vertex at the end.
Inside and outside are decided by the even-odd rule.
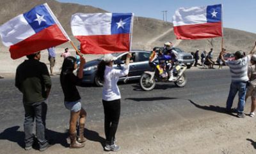
POLYGON ((46 3, 1 25, 0 36, 3 44, 10 46, 12 59, 70 40, 46 3))

